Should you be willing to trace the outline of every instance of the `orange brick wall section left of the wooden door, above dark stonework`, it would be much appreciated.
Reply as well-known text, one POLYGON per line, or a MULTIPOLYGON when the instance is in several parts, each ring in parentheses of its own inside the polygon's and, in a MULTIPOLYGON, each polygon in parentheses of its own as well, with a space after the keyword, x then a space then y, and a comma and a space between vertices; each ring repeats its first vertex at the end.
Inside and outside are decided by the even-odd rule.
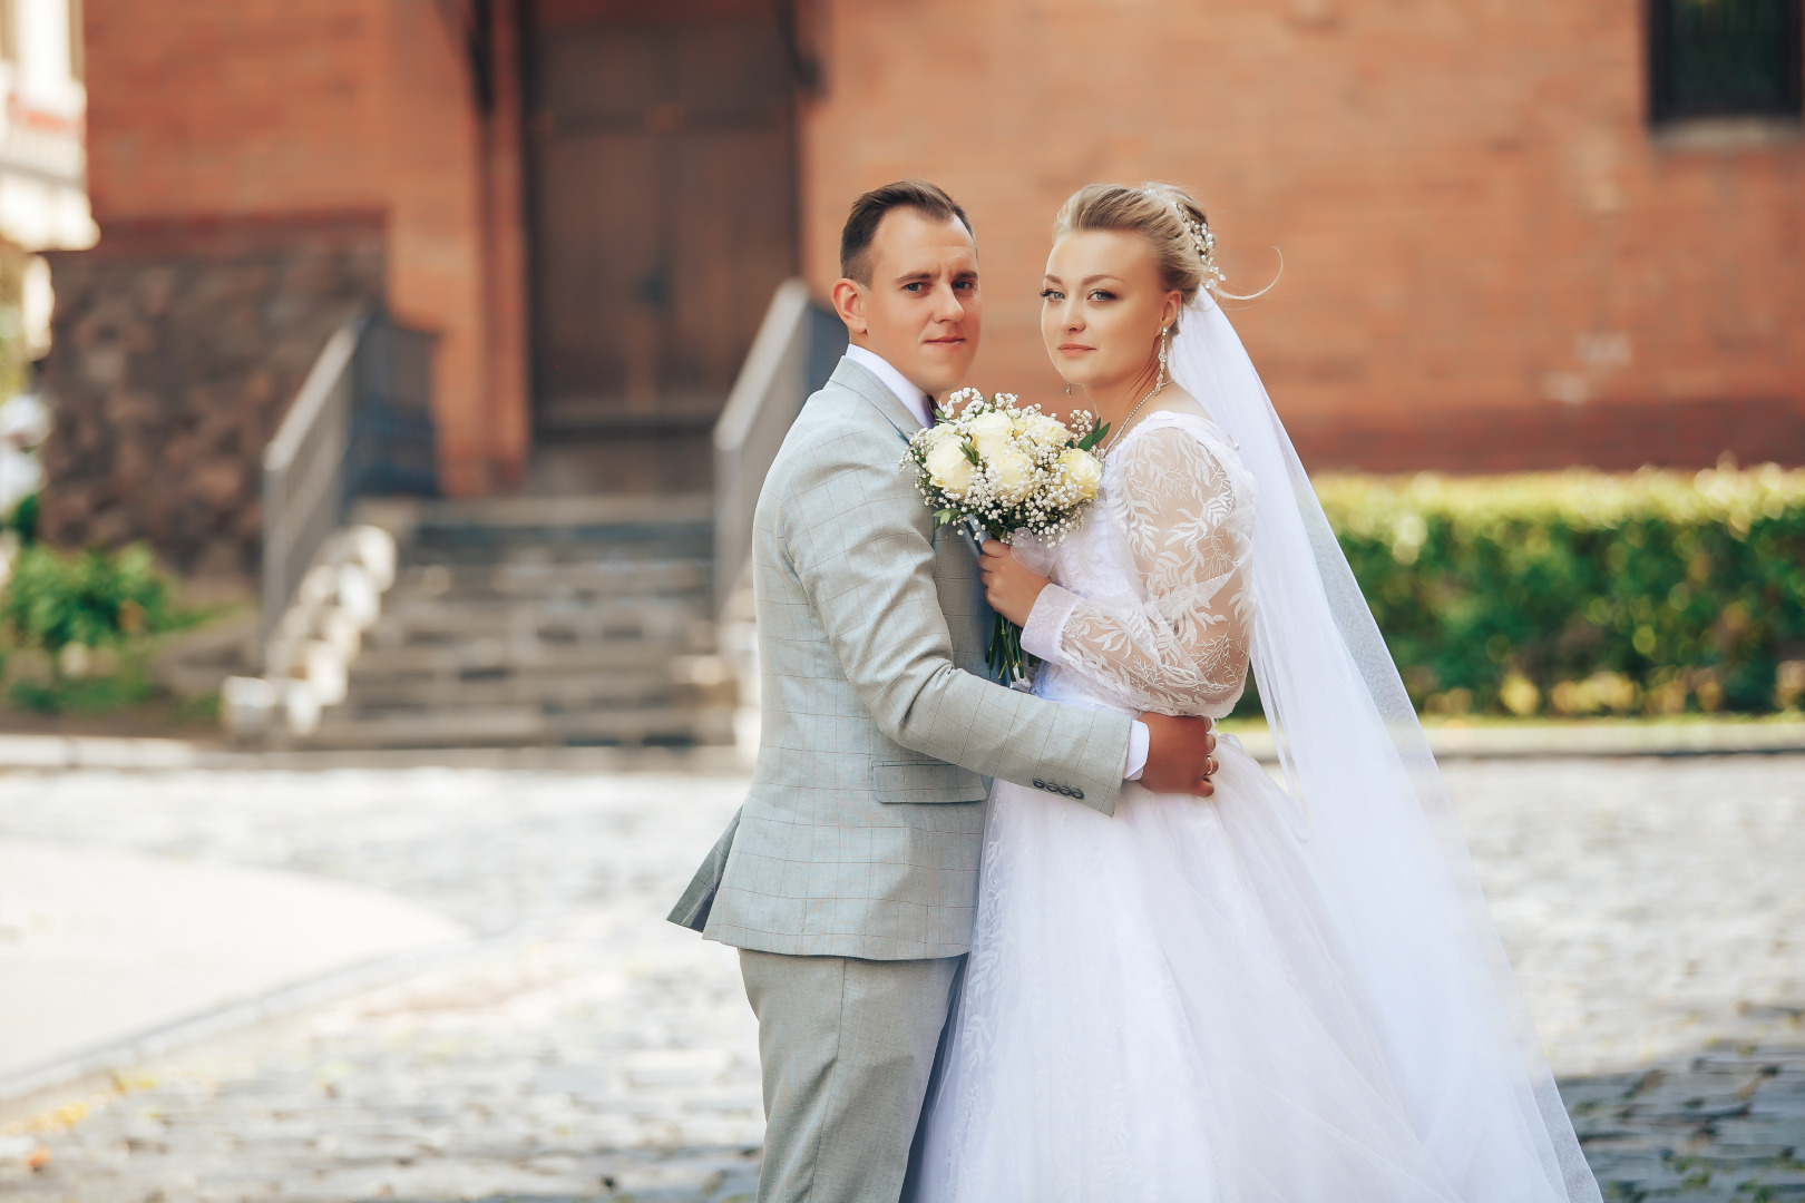
POLYGON ((87 0, 88 175, 103 242, 110 220, 384 215, 388 301, 440 334, 440 478, 482 492, 518 476, 527 399, 518 296, 491 287, 518 265, 484 236, 507 144, 484 139, 455 9, 87 0))

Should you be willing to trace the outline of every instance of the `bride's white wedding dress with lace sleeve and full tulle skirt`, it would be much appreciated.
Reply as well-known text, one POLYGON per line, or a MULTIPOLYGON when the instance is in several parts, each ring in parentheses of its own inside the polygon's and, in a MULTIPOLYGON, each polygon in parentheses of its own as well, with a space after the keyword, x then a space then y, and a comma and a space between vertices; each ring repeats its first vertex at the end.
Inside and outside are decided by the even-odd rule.
MULTIPOLYGON (((1027 631, 1054 649, 1036 693, 1227 714, 1260 604, 1254 514, 1213 420, 1132 427, 1056 552, 1065 593, 1027 631)), ((1401 1005, 1356 967, 1309 808, 1233 739, 1218 758, 1215 797, 1128 785, 1114 817, 995 785, 919 1198, 1567 1199, 1529 1104, 1410 1088, 1415 1062, 1489 1053, 1458 1024, 1384 1014, 1401 1005)), ((1567 1172, 1583 1198, 1588 1176, 1567 1172)))

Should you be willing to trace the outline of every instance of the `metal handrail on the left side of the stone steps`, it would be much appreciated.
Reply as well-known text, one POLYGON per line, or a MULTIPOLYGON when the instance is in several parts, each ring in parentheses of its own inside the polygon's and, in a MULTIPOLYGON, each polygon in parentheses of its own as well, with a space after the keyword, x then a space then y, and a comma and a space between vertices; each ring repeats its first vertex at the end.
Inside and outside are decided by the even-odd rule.
POLYGON ((431 335, 363 307, 332 332, 264 449, 267 642, 361 492, 433 492, 431 335))

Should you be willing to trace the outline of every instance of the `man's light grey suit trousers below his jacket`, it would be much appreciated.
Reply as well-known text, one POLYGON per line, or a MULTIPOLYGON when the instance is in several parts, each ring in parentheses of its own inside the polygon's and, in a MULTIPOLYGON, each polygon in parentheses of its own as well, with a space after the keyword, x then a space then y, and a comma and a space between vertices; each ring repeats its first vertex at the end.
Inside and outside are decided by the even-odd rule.
POLYGON ((901 1198, 964 960, 740 949, 765 1079, 758 1203, 901 1198))

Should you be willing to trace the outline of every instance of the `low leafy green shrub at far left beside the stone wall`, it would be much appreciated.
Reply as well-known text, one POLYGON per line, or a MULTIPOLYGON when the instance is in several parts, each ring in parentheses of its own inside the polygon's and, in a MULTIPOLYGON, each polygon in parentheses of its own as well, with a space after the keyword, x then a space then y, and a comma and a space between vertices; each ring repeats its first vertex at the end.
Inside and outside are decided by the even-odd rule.
POLYGON ((61 651, 67 644, 108 647, 182 624, 150 550, 63 556, 34 543, 20 550, 0 595, 0 622, 14 646, 61 651))

